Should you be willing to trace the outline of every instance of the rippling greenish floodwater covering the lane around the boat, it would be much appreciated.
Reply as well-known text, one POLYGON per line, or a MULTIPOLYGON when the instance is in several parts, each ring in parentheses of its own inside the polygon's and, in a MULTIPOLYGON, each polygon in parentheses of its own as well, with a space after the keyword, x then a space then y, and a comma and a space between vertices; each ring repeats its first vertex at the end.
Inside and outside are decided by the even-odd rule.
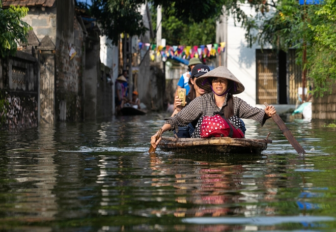
MULTIPOLYGON (((1 231, 331 231, 336 129, 245 121, 261 155, 150 155, 166 113, 0 132, 1 231)), ((166 132, 165 135, 171 135, 166 132)))

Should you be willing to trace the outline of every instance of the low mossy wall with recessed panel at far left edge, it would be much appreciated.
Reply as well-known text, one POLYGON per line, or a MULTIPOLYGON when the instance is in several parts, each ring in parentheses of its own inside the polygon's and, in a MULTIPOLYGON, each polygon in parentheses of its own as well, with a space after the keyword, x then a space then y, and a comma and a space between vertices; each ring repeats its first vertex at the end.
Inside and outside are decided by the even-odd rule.
POLYGON ((38 125, 39 68, 35 57, 18 51, 0 60, 0 128, 38 125))

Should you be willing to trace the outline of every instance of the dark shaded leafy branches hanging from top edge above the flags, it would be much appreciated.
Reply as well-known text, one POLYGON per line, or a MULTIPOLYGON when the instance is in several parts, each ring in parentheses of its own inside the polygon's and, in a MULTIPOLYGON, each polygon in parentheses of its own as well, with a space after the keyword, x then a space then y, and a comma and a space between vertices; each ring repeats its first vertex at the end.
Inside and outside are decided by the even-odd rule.
MULTIPOLYGON (((143 35, 148 28, 144 26, 139 7, 145 0, 92 0, 91 12, 102 26, 102 32, 117 44, 121 34, 143 35)), ((149 0, 151 6, 161 5, 165 16, 181 25, 200 23, 208 18, 219 17, 224 1, 216 0, 149 0)))

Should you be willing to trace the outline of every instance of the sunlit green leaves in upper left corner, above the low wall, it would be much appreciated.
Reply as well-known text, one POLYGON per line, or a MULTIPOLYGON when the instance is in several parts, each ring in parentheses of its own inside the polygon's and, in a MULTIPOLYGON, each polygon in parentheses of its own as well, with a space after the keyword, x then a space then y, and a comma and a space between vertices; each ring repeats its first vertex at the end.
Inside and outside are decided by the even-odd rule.
POLYGON ((2 57, 14 55, 18 42, 27 43, 26 37, 32 28, 21 20, 27 12, 26 7, 0 8, 0 55, 2 57))

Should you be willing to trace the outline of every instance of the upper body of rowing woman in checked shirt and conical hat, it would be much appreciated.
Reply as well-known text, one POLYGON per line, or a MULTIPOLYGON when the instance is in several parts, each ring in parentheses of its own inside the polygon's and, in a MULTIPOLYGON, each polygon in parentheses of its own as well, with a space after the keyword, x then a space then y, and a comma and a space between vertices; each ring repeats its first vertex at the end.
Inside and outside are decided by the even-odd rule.
MULTIPOLYGON (((273 105, 265 109, 252 107, 233 94, 242 93, 244 85, 226 67, 220 66, 196 79, 196 84, 210 93, 195 98, 174 117, 168 118, 162 126, 162 133, 167 130, 178 130, 179 126, 201 118, 202 116, 212 116, 214 112, 221 112, 229 119, 236 116, 241 119, 253 119, 264 125, 272 114, 276 113, 273 105)), ((151 138, 154 148, 161 141, 161 137, 156 141, 156 135, 151 138)))

